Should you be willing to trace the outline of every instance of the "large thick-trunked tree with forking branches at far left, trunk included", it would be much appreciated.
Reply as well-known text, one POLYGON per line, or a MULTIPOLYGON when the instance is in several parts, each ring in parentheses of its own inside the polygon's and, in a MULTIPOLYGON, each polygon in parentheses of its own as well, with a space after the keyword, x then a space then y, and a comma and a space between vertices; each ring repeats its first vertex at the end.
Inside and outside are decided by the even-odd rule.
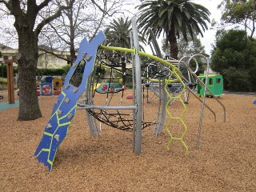
POLYGON ((14 28, 18 34, 18 77, 19 111, 18 120, 28 121, 42 117, 36 88, 36 70, 38 63, 38 35, 47 23, 52 22, 69 6, 54 6, 50 0, 40 1, 0 1, 6 11, 14 16, 14 28), (42 18, 46 10, 47 17, 42 18))

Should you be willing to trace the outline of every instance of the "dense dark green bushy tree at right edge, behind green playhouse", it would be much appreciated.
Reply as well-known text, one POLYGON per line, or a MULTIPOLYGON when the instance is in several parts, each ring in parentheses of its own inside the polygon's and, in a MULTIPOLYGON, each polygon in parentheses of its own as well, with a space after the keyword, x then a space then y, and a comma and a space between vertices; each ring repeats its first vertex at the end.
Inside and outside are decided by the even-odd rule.
POLYGON ((223 75, 226 90, 255 91, 255 39, 246 38, 243 30, 222 31, 212 53, 211 68, 223 75))

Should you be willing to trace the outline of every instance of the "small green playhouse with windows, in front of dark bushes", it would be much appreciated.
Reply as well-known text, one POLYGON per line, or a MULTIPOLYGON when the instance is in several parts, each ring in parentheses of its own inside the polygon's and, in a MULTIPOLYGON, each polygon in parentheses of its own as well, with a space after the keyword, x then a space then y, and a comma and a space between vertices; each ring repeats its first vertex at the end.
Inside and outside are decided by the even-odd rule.
MULTIPOLYGON (((206 75, 200 75, 200 76, 198 76, 198 78, 200 78, 201 81, 206 84, 206 75)), ((223 95, 222 75, 221 74, 209 74, 207 87, 215 96, 223 95)), ((204 94, 205 87, 202 86, 200 83, 198 83, 197 90, 198 90, 198 97, 201 97, 204 94)), ((210 96, 210 95, 211 95, 210 92, 206 91, 206 96, 210 96)))

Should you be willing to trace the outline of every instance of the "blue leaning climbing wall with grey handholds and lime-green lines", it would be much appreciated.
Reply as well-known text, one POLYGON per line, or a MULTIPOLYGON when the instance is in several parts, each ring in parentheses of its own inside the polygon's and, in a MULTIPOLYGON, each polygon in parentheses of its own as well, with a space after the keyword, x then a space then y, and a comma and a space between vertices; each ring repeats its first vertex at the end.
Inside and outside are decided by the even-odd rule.
POLYGON ((42 162, 49 170, 52 170, 58 146, 66 138, 70 122, 76 112, 78 98, 85 90, 86 82, 94 70, 94 61, 98 46, 105 39, 106 37, 102 32, 97 34, 90 42, 87 42, 86 38, 83 38, 78 50, 78 57, 68 74, 66 74, 62 93, 56 99, 51 118, 46 123, 42 140, 34 153, 38 158, 38 162, 42 162), (70 79, 73 77, 78 66, 82 65, 84 65, 82 82, 78 87, 73 86, 70 84, 70 79))

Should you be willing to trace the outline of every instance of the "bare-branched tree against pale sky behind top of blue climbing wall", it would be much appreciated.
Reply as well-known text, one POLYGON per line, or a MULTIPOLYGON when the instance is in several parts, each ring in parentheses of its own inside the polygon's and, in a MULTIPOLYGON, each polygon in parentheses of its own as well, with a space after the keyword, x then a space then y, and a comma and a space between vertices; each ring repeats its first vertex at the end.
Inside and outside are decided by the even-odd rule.
POLYGON ((102 28, 106 19, 120 12, 124 0, 65 0, 70 6, 69 10, 63 11, 61 17, 50 22, 42 31, 41 44, 49 46, 54 54, 54 49, 70 50, 70 58, 62 58, 67 62, 74 62, 76 49, 82 38, 94 38, 98 30, 102 28))

